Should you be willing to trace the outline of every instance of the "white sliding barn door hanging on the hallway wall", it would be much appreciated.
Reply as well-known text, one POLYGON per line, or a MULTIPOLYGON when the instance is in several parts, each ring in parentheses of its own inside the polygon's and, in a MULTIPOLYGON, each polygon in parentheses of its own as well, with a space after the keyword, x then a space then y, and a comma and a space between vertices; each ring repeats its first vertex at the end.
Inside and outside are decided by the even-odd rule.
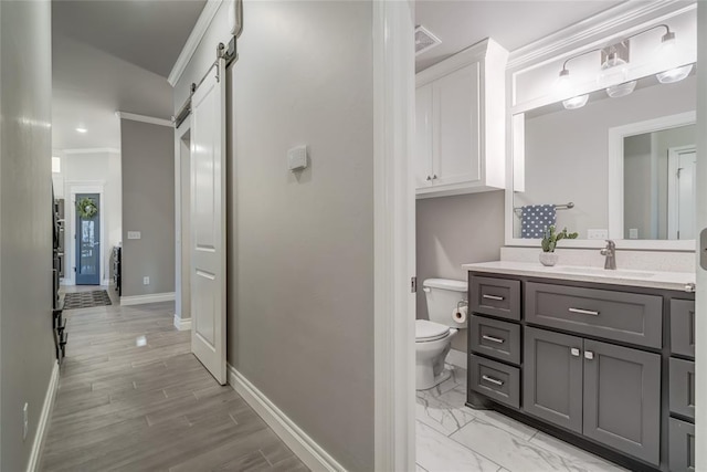
POLYGON ((191 350, 225 374, 225 62, 191 99, 191 350), (221 80, 219 80, 221 77, 221 80))

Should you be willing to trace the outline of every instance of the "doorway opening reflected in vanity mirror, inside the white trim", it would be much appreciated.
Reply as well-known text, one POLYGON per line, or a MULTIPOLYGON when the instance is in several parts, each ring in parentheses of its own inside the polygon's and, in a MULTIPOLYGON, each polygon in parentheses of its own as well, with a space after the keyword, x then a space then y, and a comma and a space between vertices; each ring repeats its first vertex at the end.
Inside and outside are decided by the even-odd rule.
POLYGON ((624 239, 695 239, 695 127, 623 137, 624 239))

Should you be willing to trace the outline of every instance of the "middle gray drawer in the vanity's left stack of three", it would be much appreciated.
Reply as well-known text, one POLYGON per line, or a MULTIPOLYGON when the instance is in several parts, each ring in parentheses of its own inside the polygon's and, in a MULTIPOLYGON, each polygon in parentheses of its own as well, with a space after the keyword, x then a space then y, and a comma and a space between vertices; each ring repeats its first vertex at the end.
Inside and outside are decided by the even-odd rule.
POLYGON ((472 315, 469 335, 473 352, 520 364, 520 325, 472 315))

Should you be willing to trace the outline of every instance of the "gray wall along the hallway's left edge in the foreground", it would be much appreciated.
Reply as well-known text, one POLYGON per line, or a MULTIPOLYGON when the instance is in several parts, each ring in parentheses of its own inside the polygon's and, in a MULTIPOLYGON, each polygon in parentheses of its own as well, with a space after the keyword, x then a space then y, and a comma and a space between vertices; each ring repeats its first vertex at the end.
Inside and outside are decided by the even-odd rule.
POLYGON ((0 470, 27 468, 55 365, 51 10, 0 2, 0 470), (29 431, 22 440, 22 407, 29 431))

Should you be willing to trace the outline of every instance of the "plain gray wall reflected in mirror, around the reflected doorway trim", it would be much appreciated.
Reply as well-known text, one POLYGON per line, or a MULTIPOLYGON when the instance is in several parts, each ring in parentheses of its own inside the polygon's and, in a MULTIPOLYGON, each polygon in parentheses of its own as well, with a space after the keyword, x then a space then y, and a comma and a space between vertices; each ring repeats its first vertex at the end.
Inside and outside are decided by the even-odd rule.
MULTIPOLYGON (((526 191, 515 206, 574 202, 557 213, 558 225, 579 231, 609 225, 609 128, 695 109, 695 75, 671 85, 636 90, 583 108, 526 115, 526 191)), ((561 107, 560 107, 561 108, 561 107)), ((520 235, 520 219, 514 218, 520 235)))

